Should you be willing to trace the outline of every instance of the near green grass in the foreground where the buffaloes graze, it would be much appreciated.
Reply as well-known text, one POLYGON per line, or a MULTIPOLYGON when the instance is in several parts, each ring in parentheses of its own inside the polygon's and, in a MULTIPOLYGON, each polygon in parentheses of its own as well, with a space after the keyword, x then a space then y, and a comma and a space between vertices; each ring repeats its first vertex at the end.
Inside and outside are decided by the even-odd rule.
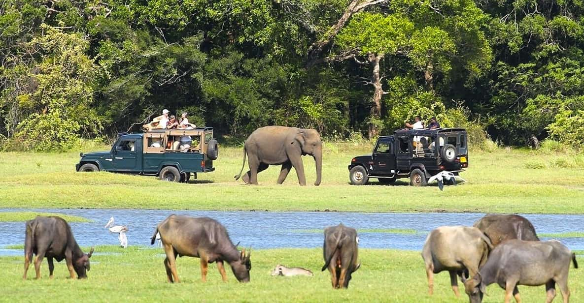
MULTIPOLYGON (((22 257, 0 258, 0 290, 2 301, 61 301, 62 298, 84 298, 84 301, 246 301, 246 302, 468 302, 464 293, 454 297, 448 273, 434 277, 434 295, 427 295, 426 274, 419 252, 361 249, 361 268, 353 274, 347 290, 332 290, 328 272, 321 272, 322 249, 273 249, 252 253, 251 282, 237 283, 229 268, 228 282, 223 283, 217 267, 210 265, 207 283, 201 282, 199 259, 180 258, 177 270, 182 283, 166 283, 164 255, 159 249, 130 248, 121 250, 100 246, 91 258, 88 280, 67 278, 64 262, 55 263, 55 277, 48 279, 46 261, 41 266, 42 279, 21 279, 22 257), (99 252, 109 251, 110 254, 99 252), (272 277, 278 264, 306 267, 314 277, 272 277), (34 290, 34 291, 31 291, 34 290), (300 290, 300 291, 299 291, 300 290)), ((584 260, 579 258, 579 262, 584 260)), ((226 267, 228 267, 226 265, 226 267)), ((570 269, 571 301, 584 300, 584 271, 570 269)), ((503 290, 496 285, 487 288, 483 302, 503 301, 503 290)), ((524 302, 545 300, 544 286, 520 286, 524 302)), ((559 290, 557 301, 559 298, 559 290)))

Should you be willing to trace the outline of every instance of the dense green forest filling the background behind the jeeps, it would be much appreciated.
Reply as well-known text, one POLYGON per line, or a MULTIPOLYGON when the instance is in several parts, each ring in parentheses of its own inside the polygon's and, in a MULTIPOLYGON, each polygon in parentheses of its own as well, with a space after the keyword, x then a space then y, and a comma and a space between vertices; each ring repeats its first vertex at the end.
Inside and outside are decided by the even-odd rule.
POLYGON ((158 115, 327 138, 420 115, 584 144, 582 0, 2 0, 0 150, 67 150, 158 115))

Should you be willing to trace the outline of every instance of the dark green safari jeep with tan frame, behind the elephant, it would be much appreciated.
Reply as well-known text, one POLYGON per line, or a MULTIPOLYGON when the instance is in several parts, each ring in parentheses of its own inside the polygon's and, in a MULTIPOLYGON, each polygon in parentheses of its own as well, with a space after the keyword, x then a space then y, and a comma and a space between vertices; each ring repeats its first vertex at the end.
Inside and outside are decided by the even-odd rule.
POLYGON ((75 169, 156 175, 166 181, 185 182, 191 174, 196 179, 197 172, 214 171, 218 153, 213 128, 154 129, 120 134, 107 152, 79 154, 81 160, 75 169), (180 139, 188 137, 190 146, 181 146, 180 139))

